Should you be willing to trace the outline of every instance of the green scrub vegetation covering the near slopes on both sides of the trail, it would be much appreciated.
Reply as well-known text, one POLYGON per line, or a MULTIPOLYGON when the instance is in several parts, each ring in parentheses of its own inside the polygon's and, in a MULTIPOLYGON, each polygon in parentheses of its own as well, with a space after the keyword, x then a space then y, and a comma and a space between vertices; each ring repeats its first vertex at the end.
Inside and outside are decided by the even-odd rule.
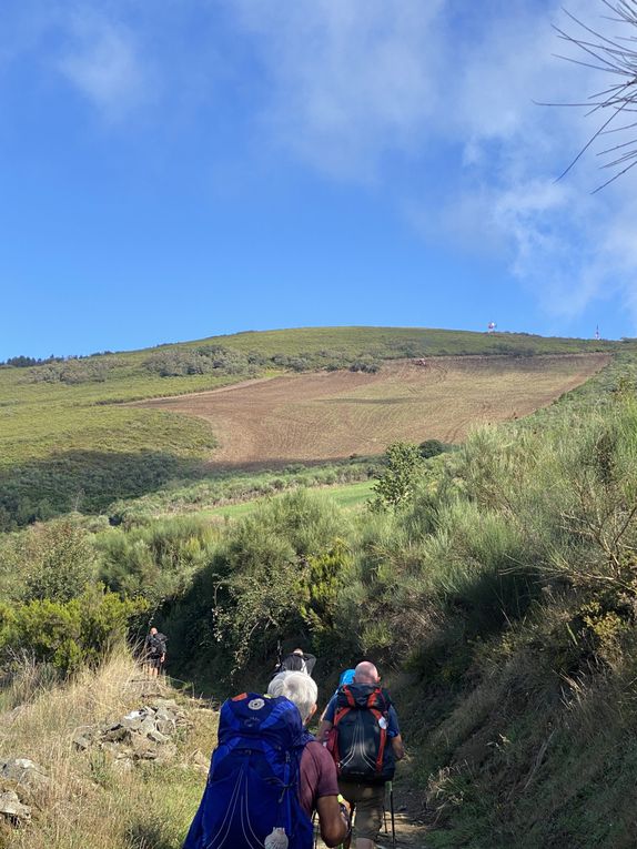
MULTIPOLYGON (((47 699, 27 699, 31 707, 10 726, 10 754, 22 747, 29 756, 38 735, 49 739, 50 728, 69 724, 53 706, 65 693, 83 693, 73 704, 85 705, 87 691, 105 687, 87 681, 101 681, 113 663, 121 670, 129 661, 120 640, 128 633, 134 641, 153 616, 170 636, 169 673, 215 697, 264 686, 280 640, 318 656, 324 698, 352 659, 380 664, 411 752, 402 781, 434 849, 633 847, 631 345, 550 406, 445 447, 400 443, 381 463, 334 465, 331 474, 376 478, 370 505, 355 511, 327 488, 299 485, 326 483, 305 475, 327 472, 297 469, 283 485, 274 485, 277 473, 246 475, 239 491, 230 475, 221 489, 182 483, 120 502, 108 516, 72 513, 3 534, 7 710, 21 699, 18 646, 49 670, 47 699), (273 492, 259 493, 257 483, 273 492), (245 515, 208 512, 218 498, 249 494, 261 497, 245 515), (38 728, 24 726, 28 717, 42 717, 38 728)), ((64 728, 55 739, 68 738, 64 728)), ((108 765, 91 775, 82 772, 87 759, 64 764, 92 788, 79 801, 65 784, 55 801, 70 811, 63 828, 73 823, 75 842, 55 842, 43 808, 16 846, 39 846, 40 833, 49 837, 42 846, 97 846, 91 829, 108 799, 113 837, 101 845, 179 849, 202 779, 169 770, 170 792, 153 794, 144 768, 133 774, 131 799, 128 779, 112 780, 108 765)))

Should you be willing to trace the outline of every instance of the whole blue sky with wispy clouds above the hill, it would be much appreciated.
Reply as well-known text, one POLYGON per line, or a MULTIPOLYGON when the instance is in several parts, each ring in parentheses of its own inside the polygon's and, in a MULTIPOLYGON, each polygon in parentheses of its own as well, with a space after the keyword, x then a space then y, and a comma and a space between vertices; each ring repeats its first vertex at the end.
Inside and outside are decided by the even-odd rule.
MULTIPOLYGON (((0 360, 323 324, 637 335, 550 0, 4 0, 0 360)), ((597 26, 597 0, 570 11, 597 26)), ((615 26, 615 24, 613 24, 615 26)), ((631 34, 631 33, 627 33, 631 34)))

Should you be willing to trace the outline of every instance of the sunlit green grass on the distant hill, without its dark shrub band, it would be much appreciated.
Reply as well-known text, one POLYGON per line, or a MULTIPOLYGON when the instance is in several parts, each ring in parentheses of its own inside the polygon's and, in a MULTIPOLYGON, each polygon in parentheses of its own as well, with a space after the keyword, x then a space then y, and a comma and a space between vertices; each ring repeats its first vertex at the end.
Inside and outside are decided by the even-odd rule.
MULTIPOLYGON (((240 333, 176 347, 202 344, 264 356, 336 350, 347 356, 392 358, 613 351, 619 343, 401 327, 320 327, 240 333)), ((0 527, 73 506, 100 509, 113 498, 153 492, 169 479, 196 475, 199 464, 214 448, 214 435, 205 423, 118 404, 214 388, 241 378, 150 374, 144 361, 171 347, 101 356, 100 363, 111 366, 108 378, 78 385, 30 383, 31 370, 0 367, 0 489, 4 492, 0 527)))

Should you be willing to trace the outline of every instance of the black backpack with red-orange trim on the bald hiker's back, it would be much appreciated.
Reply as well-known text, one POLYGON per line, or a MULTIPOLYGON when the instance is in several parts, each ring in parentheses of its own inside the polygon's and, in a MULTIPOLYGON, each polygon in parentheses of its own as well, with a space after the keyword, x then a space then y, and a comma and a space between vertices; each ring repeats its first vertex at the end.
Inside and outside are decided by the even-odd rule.
POLYGON ((338 689, 327 749, 340 778, 363 784, 392 780, 396 762, 387 735, 391 705, 388 693, 373 684, 338 689))

